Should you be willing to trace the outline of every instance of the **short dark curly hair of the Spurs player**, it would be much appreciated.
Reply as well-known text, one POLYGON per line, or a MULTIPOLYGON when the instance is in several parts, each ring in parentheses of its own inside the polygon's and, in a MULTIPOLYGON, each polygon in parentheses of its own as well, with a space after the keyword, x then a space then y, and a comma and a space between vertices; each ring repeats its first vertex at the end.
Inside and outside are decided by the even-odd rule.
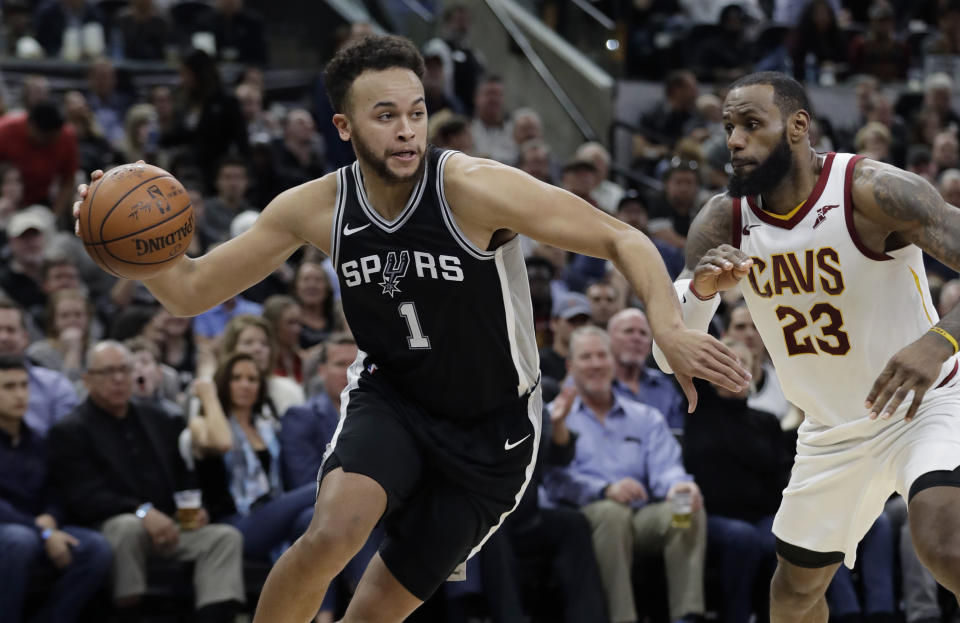
POLYGON ((423 56, 409 39, 396 35, 368 35, 345 46, 323 71, 333 111, 344 112, 347 93, 360 74, 394 67, 409 69, 417 74, 417 78, 423 79, 423 56))

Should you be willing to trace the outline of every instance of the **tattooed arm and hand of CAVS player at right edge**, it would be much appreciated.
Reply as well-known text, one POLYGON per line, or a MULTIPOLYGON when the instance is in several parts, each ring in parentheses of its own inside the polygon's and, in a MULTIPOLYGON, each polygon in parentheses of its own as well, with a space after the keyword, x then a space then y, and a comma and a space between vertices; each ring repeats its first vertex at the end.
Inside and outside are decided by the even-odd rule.
MULTIPOLYGON (((873 160, 861 160, 854 170, 853 203, 858 234, 874 251, 889 242, 913 243, 947 266, 960 270, 960 210, 948 204, 925 179, 873 160)), ((960 336, 960 306, 937 327, 960 336)), ((934 332, 925 333, 887 363, 867 395, 870 416, 889 418, 907 392, 914 398, 907 411, 916 415, 924 393, 940 374, 953 345, 934 332)))

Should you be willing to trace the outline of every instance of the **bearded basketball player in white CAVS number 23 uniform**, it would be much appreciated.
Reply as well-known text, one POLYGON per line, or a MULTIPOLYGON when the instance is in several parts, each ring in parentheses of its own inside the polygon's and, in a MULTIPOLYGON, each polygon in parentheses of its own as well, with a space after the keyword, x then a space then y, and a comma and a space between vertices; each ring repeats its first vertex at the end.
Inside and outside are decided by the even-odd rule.
POLYGON ((960 593, 960 311, 937 317, 921 253, 960 269, 960 211, 912 173, 814 153, 808 110, 783 74, 731 86, 733 175, 691 226, 676 283, 692 328, 740 286, 806 414, 773 526, 775 623, 827 620, 827 585, 893 491, 921 561, 960 593))

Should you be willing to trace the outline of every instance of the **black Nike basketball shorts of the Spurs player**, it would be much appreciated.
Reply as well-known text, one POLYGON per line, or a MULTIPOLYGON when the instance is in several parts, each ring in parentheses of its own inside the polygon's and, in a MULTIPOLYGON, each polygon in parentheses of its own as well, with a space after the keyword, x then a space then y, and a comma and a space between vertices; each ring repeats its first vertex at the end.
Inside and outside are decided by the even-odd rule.
POLYGON ((429 415, 368 371, 343 400, 319 479, 342 467, 383 487, 380 557, 426 600, 519 502, 540 443, 539 386, 469 422, 429 415))

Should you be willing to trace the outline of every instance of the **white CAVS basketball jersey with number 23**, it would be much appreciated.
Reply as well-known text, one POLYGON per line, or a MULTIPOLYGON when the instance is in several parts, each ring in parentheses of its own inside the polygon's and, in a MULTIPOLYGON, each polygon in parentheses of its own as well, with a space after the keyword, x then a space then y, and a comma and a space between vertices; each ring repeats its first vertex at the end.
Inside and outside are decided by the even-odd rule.
MULTIPOLYGON (((747 307, 784 395, 824 426, 865 417, 887 361, 939 320, 920 249, 876 253, 857 236, 860 158, 826 154, 813 192, 790 214, 765 212, 759 198, 733 201, 733 245, 753 258, 741 282, 747 307)), ((931 389, 956 373, 953 357, 931 389)))

